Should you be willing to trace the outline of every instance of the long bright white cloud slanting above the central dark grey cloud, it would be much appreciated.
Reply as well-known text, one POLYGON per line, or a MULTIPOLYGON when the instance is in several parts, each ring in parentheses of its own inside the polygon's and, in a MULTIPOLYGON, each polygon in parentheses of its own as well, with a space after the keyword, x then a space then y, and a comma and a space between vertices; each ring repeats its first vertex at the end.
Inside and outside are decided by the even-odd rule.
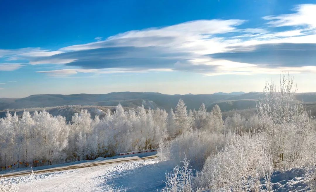
POLYGON ((103 41, 67 46, 61 48, 60 51, 79 51, 112 46, 192 47, 196 45, 196 41, 211 41, 211 35, 237 31, 236 26, 244 22, 244 20, 197 20, 163 28, 128 31, 103 41))

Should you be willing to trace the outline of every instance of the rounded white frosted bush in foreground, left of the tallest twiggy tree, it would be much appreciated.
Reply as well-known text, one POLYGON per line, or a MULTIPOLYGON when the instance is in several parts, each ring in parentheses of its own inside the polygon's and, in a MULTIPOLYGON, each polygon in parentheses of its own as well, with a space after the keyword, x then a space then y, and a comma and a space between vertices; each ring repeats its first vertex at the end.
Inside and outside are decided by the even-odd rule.
POLYGON ((251 191, 269 171, 270 157, 260 135, 234 136, 225 150, 211 155, 195 178, 196 187, 219 191, 251 191))

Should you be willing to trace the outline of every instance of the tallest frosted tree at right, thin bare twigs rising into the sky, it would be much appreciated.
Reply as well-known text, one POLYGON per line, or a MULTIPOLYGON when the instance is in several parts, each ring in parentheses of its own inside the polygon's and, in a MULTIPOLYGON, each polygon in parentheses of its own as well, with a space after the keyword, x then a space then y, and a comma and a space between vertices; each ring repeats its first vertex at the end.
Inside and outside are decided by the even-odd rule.
POLYGON ((276 168, 302 164, 313 154, 313 128, 302 102, 294 99, 293 77, 280 72, 280 82, 266 82, 258 102, 259 120, 276 168))

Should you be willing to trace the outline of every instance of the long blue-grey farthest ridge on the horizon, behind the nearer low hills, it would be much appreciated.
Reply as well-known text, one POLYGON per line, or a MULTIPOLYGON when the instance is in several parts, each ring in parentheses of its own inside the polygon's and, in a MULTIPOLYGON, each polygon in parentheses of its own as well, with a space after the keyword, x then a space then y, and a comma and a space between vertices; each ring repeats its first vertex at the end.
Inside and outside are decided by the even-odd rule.
POLYGON ((124 107, 145 108, 174 108, 183 99, 188 109, 199 108, 201 103, 210 105, 213 102, 226 99, 229 96, 216 94, 201 95, 167 95, 154 92, 113 92, 108 94, 72 94, 72 95, 31 95, 25 98, 0 98, 0 110, 21 109, 34 107, 53 107, 62 105, 93 105, 116 106, 119 103, 124 107))

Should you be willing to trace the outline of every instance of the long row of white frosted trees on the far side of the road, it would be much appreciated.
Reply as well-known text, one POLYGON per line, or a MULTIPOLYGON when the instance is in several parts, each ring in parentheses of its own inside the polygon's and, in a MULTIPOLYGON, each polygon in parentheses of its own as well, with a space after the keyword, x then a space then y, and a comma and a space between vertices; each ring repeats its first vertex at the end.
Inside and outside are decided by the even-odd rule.
POLYGON ((220 108, 209 113, 202 103, 199 110, 187 111, 180 99, 175 109, 125 110, 120 104, 114 112, 91 118, 85 109, 67 123, 63 116, 52 116, 46 110, 33 115, 24 111, 21 117, 9 111, 0 119, 0 166, 27 162, 32 166, 76 160, 91 160, 159 147, 159 142, 197 129, 222 129, 220 108))

